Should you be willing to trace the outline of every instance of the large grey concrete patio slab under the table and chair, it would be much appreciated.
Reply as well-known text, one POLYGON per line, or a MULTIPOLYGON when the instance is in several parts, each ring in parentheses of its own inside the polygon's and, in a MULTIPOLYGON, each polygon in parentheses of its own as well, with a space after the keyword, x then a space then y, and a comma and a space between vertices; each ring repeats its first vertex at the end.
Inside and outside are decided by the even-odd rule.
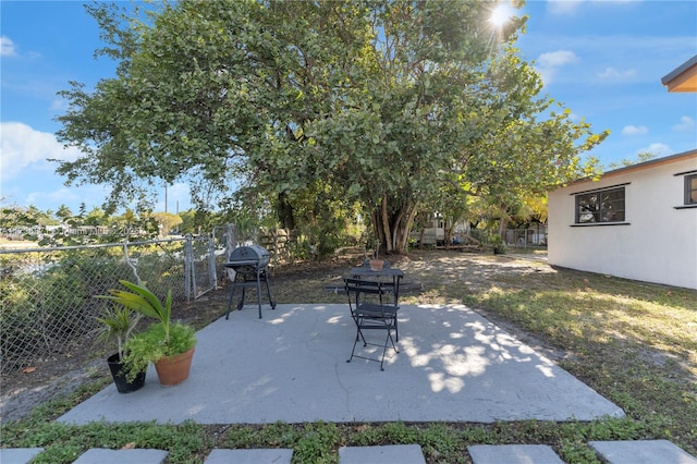
MULTIPOLYGON (((377 334, 376 334, 377 335, 377 334)), ((400 353, 346 363, 347 305, 255 306, 197 333, 191 377, 109 386, 58 420, 181 424, 591 420, 620 407, 465 306, 402 306, 400 353)))

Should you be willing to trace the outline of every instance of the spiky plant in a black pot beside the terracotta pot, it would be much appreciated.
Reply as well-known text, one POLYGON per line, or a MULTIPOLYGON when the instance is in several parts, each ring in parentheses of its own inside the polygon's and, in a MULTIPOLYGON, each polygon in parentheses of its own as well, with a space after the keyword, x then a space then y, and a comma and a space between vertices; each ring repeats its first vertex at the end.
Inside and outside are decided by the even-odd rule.
POLYGON ((125 369, 124 344, 131 338, 131 333, 140 320, 142 315, 131 310, 125 306, 110 307, 105 312, 102 317, 98 317, 97 321, 101 326, 96 330, 97 340, 103 342, 115 342, 117 352, 107 357, 107 364, 113 382, 119 393, 131 393, 139 390, 145 384, 146 369, 134 373, 129 379, 125 369))

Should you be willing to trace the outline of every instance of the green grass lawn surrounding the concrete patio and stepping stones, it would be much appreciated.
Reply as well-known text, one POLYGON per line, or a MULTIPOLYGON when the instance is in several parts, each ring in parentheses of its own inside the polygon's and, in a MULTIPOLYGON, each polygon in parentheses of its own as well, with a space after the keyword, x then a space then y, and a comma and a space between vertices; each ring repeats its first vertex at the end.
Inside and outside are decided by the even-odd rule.
MULTIPOLYGON (((69 463, 88 448, 157 448, 169 462, 203 462, 212 448, 283 447, 294 463, 332 463, 341 445, 419 443, 428 463, 468 463, 469 444, 542 443, 568 463, 597 463, 589 440, 667 439, 697 455, 697 292, 552 269, 511 256, 430 252, 399 261, 419 284, 401 301, 464 303, 506 330, 538 341, 567 371, 622 407, 625 419, 591 423, 270 424, 181 426, 51 420, 103 387, 2 424, 1 445, 44 447, 37 462, 69 463), (465 261, 463 261, 465 260, 465 261), (501 271, 503 266, 504 271, 501 271), (474 279, 473 276, 479 276, 474 279)), ((343 302, 325 286, 337 272, 280 272, 274 297, 285 303, 343 302), (292 284, 285 284, 285 283, 292 284)))

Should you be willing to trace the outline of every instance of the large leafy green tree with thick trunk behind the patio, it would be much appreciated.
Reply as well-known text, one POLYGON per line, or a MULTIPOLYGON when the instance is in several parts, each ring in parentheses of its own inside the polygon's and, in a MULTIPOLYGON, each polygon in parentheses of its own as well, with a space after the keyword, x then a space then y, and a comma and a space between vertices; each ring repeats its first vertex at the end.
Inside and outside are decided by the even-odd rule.
POLYGON ((184 0, 144 21, 91 7, 120 66, 63 93, 59 137, 85 156, 59 172, 110 183, 112 206, 182 179, 225 204, 242 184, 288 227, 321 192, 364 205, 382 249, 402 253, 444 184, 503 203, 579 175, 602 139, 547 112, 504 46, 524 20, 492 30, 497 3, 184 0))

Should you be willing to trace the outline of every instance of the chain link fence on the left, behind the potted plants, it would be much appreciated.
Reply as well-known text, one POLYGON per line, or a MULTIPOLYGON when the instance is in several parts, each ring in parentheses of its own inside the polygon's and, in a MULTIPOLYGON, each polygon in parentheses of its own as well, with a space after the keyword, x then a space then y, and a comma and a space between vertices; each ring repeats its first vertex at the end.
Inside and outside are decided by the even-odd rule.
POLYGON ((216 288, 213 236, 0 251, 0 373, 91 343, 119 280, 147 283, 173 304, 216 288))

